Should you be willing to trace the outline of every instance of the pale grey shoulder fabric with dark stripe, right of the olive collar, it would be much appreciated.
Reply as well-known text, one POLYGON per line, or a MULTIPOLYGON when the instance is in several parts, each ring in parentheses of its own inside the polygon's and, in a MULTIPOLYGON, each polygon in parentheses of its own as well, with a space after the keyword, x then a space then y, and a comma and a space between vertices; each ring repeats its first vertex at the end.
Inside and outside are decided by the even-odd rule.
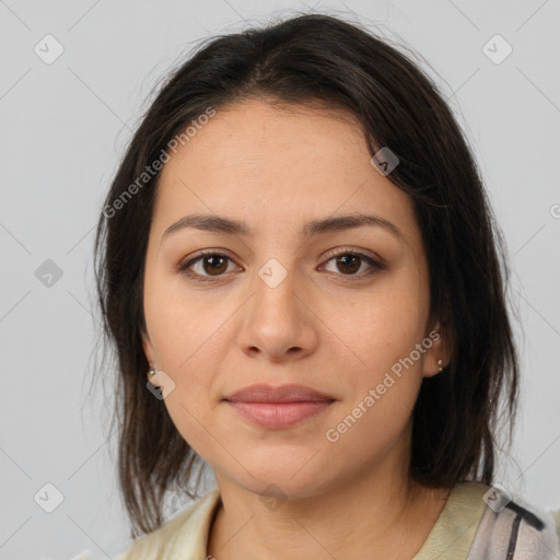
POLYGON ((486 488, 485 509, 468 559, 558 558, 559 512, 546 512, 500 485, 486 488))

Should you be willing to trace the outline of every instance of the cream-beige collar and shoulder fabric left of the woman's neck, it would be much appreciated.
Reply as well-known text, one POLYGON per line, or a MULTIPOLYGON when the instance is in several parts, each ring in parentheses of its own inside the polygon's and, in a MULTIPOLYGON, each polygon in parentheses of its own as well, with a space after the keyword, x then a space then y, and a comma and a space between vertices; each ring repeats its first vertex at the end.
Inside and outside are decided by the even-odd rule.
POLYGON ((124 552, 117 555, 115 560, 205 558, 208 530, 219 501, 218 489, 208 492, 159 529, 135 540, 124 552))

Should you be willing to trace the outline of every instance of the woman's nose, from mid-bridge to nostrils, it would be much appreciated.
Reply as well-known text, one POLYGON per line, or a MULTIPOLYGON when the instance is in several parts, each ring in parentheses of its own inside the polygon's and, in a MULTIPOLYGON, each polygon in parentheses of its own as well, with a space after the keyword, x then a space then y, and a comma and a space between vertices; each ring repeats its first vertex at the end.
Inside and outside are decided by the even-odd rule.
POLYGON ((318 345, 317 311, 295 271, 269 261, 254 281, 237 342, 252 358, 280 363, 312 354, 318 345))

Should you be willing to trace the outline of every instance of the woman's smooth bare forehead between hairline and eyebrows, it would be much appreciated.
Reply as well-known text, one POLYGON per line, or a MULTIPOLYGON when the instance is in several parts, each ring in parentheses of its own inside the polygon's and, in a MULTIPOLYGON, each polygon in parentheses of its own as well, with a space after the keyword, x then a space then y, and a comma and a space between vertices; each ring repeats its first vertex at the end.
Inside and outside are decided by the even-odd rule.
POLYGON ((299 230, 302 220, 368 211, 412 240, 410 198, 370 160, 363 129, 348 112, 244 101, 217 109, 171 153, 155 218, 210 211, 250 221, 253 214, 257 231, 259 223, 299 230))

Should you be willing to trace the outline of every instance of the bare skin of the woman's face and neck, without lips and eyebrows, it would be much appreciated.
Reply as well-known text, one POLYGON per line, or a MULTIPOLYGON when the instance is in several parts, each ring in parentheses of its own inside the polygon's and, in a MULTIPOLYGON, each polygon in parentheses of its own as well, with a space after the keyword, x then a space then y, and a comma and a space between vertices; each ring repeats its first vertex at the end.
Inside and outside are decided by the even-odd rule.
POLYGON ((208 553, 218 560, 412 558, 445 504, 448 491, 413 483, 408 465, 422 378, 450 352, 440 325, 429 324, 412 201, 370 158, 350 114, 246 100, 218 110, 163 167, 143 347, 160 370, 152 383, 175 384, 164 404, 177 430, 214 469, 222 503, 208 553), (402 240, 380 226, 300 233, 311 220, 359 212, 392 222, 402 240), (191 213, 243 220, 253 233, 183 229, 162 241, 191 213), (208 282, 176 268, 201 249, 231 259, 190 267, 208 282), (386 269, 361 259, 352 271, 337 265, 338 252, 382 259, 386 269), (258 276, 271 258, 287 272, 275 288, 258 276), (441 338, 328 441, 326 431, 434 329, 441 338), (269 430, 222 400, 255 383, 302 384, 336 400, 269 430), (262 495, 280 500, 270 506, 262 495))

